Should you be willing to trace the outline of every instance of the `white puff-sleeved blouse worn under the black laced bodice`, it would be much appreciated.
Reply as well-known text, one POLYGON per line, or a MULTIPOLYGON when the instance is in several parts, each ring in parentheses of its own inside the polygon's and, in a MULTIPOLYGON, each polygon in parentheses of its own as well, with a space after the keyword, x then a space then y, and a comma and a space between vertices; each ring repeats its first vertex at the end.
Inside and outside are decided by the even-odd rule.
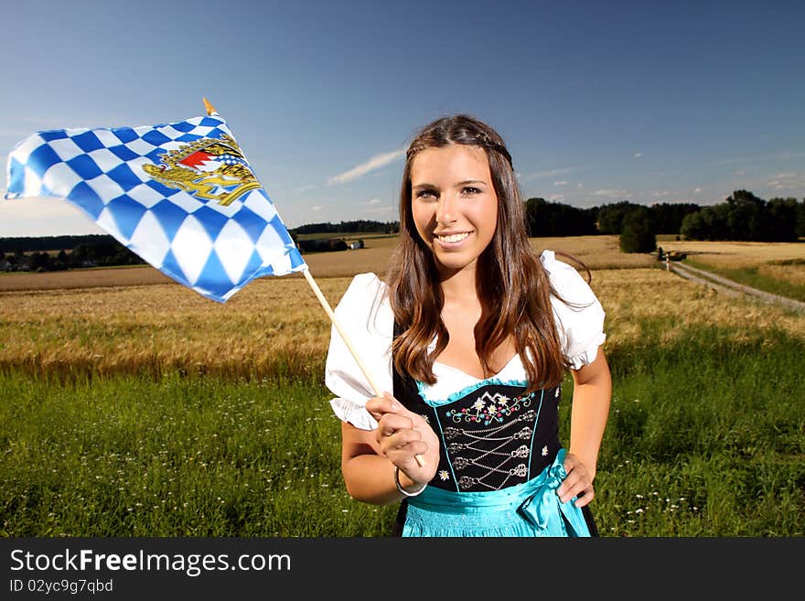
MULTIPOLYGON (((543 251, 540 261, 553 284, 553 289, 570 305, 551 296, 554 321, 565 358, 577 370, 596 360, 598 347, 604 343, 604 309, 595 293, 573 266, 556 259, 553 251, 543 251)), ((341 329, 352 349, 369 371, 380 392, 393 392, 392 336, 394 315, 386 294, 388 286, 375 274, 357 274, 334 309, 341 329)), ((435 349, 435 339, 428 349, 435 349)), ((479 380, 457 368, 434 362, 436 382, 418 382, 424 401, 429 404, 447 402, 448 397, 479 382, 502 381, 525 383, 526 372, 519 355, 515 355, 498 373, 479 380)), ((335 326, 331 327, 330 346, 325 366, 325 384, 336 395, 330 406, 338 418, 363 430, 372 430, 377 422, 364 406, 375 392, 370 379, 360 369, 347 344, 335 326)))

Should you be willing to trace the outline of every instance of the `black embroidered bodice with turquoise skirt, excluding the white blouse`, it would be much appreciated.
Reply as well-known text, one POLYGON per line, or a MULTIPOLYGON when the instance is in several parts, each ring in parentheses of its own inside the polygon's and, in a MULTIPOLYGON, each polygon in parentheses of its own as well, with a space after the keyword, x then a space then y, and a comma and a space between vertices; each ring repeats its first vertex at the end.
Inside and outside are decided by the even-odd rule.
POLYGON ((587 507, 561 502, 567 474, 559 440, 560 386, 526 393, 495 380, 426 400, 423 385, 394 373, 394 397, 439 437, 439 466, 424 491, 402 501, 403 537, 597 536, 587 507))

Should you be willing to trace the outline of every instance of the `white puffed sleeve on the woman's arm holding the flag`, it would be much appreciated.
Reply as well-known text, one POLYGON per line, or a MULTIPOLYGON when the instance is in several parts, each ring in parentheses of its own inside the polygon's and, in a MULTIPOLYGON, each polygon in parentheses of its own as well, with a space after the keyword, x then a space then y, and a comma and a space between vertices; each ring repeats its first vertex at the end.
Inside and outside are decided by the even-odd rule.
MULTIPOLYGON (((349 343, 370 372, 379 392, 392 392, 392 334, 394 316, 385 294, 386 284, 375 274, 358 274, 334 309, 349 343)), ((338 419, 361 430, 373 430, 377 422, 365 409, 375 392, 335 325, 325 365, 325 384, 336 398, 330 401, 338 419)))

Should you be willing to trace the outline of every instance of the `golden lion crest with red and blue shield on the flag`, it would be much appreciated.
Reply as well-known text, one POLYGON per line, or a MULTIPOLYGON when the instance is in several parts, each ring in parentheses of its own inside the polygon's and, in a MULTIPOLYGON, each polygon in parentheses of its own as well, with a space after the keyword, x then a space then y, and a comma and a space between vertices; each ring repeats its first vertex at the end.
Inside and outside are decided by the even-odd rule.
POLYGON ((169 188, 197 199, 218 200, 226 207, 260 182, 231 135, 200 138, 161 156, 162 165, 145 165, 145 173, 169 188))

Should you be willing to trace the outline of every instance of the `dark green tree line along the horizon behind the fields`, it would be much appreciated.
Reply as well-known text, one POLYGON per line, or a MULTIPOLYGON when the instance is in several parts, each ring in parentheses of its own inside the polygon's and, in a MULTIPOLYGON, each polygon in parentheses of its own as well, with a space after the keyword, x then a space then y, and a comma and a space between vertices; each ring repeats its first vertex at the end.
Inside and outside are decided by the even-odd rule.
MULTIPOLYGON (((600 207, 578 208, 542 198, 525 202, 529 236, 617 235, 624 252, 653 252, 657 234, 675 234, 685 240, 797 241, 805 237, 805 199, 760 199, 753 192, 735 190, 724 202, 695 203, 629 201, 600 207)), ((289 230, 303 252, 339 251, 346 242, 330 239, 299 240, 311 233, 398 233, 399 221, 351 220, 308 223, 289 230), (306 248, 302 248, 305 246, 306 248)), ((5 271, 57 271, 75 267, 145 263, 110 235, 0 238, 0 269, 5 271)))

